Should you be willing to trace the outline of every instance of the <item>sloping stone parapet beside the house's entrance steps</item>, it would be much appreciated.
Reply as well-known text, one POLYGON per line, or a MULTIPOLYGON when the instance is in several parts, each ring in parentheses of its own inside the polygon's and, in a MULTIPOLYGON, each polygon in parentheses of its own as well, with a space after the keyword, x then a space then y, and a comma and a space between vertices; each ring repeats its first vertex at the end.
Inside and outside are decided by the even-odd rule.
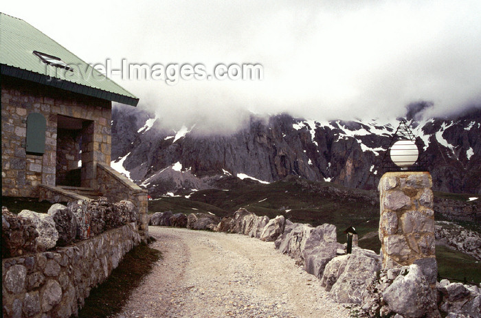
POLYGON ((109 201, 132 201, 139 209, 139 231, 142 237, 148 236, 148 198, 147 190, 140 188, 124 175, 116 172, 110 166, 99 163, 97 165, 99 191, 107 196, 109 201))

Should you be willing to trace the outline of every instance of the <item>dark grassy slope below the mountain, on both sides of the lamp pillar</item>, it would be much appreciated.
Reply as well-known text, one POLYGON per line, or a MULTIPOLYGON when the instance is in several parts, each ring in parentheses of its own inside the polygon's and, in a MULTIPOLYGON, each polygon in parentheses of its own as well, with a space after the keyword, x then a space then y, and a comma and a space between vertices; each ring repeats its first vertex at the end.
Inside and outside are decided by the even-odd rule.
MULTIPOLYGON (((375 192, 343 188, 328 182, 313 182, 287 177, 269 184, 237 178, 225 178, 220 183, 223 190, 201 190, 185 196, 163 196, 149 201, 149 213, 171 210, 174 213, 212 212, 219 217, 232 216, 240 207, 249 212, 273 218, 283 215, 292 222, 309 223, 313 226, 330 223, 337 227, 337 241, 346 242, 344 229, 353 226, 359 238, 377 233, 379 227, 379 203, 372 201, 375 192), (340 194, 339 194, 340 193, 340 194)), ((435 193, 435 196, 449 198, 450 194, 435 193)), ((454 195, 462 199, 466 195, 454 195)), ((436 216, 437 218, 438 216, 436 216)), ((479 227, 462 224, 471 229, 479 227)), ((379 253, 381 242, 377 235, 359 241, 359 246, 379 253)), ((436 250, 440 275, 458 280, 480 282, 481 262, 458 251, 439 247, 436 250), (462 268, 462 271, 458 269, 462 268), (472 278, 471 278, 472 277, 472 278)))

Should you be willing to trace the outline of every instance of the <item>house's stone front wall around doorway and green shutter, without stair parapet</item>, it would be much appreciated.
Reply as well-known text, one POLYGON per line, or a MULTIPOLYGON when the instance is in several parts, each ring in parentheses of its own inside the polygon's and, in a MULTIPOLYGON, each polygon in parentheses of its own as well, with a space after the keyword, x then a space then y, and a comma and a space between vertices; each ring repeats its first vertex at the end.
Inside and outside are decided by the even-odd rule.
POLYGON ((2 76, 2 195, 35 197, 37 185, 56 185, 57 117, 85 120, 82 129, 82 186, 96 188, 96 162, 111 160, 111 102, 34 82, 2 76), (45 153, 26 153, 27 116, 47 121, 45 153))

